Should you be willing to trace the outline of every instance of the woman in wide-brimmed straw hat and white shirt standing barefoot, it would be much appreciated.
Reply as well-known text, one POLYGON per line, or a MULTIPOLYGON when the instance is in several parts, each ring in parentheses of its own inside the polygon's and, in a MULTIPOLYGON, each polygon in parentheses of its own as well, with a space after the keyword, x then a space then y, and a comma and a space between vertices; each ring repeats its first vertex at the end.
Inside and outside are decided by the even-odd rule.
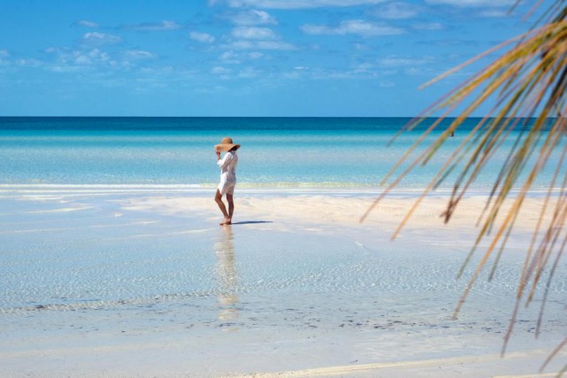
POLYGON ((240 144, 234 144, 231 138, 223 138, 220 144, 215 146, 217 153, 217 164, 220 167, 220 182, 217 187, 217 194, 215 201, 220 208, 220 211, 225 216, 225 220, 220 222, 221 226, 230 225, 233 221, 234 212, 234 186, 236 185, 236 165, 238 164, 238 155, 236 150, 241 148, 240 144), (220 152, 226 151, 225 157, 220 158, 220 152), (228 212, 226 206, 222 201, 222 197, 226 195, 226 202, 228 202, 228 212))

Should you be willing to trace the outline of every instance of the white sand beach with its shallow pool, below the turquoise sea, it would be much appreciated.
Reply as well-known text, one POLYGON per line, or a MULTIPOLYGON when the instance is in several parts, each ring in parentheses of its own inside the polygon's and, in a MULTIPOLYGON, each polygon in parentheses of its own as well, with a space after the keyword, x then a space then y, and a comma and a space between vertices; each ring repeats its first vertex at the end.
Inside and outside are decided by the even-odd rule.
MULTIPOLYGON (((219 227, 205 189, 4 188, 3 376, 553 376, 563 341, 563 264, 538 339, 540 300, 522 309, 507 353, 531 197, 492 282, 470 251, 486 197, 439 218, 447 197, 241 190, 219 227)), ((482 252, 482 249, 479 251, 482 252)), ((485 269, 490 270, 490 266, 485 269)), ((538 297, 539 299, 540 297, 538 297)))

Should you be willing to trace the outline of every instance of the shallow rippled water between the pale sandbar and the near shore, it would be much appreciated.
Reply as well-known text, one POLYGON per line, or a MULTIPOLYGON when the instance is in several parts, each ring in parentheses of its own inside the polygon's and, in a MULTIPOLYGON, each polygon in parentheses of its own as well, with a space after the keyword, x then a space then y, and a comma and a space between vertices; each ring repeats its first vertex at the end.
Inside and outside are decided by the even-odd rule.
MULTIPOLYGON (((125 210, 141 197, 148 194, 0 198, 0 312, 239 295, 458 295, 466 283, 455 275, 468 249, 456 241, 439 243, 435 233, 382 243, 386 235, 321 235, 302 226, 280 231, 270 220, 218 228, 199 219, 202 214, 125 210)), ((476 292, 513 296, 523 254, 506 256, 492 282, 481 276, 476 292)), ((564 277, 564 270, 556 274, 553 293, 565 293, 564 277)))

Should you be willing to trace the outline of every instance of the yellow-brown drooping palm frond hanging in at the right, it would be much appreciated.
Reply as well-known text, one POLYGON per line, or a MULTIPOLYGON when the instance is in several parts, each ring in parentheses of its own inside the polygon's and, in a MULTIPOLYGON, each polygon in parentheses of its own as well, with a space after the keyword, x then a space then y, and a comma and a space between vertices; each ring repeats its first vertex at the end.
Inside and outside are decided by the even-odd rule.
MULTIPOLYGON (((538 1, 534 9, 540 6, 540 3, 542 2, 538 1)), ((442 213, 444 220, 449 221, 472 183, 494 161, 494 152, 499 150, 502 143, 511 135, 517 135, 494 181, 487 203, 480 212, 479 234, 459 271, 458 275, 461 276, 472 255, 479 250, 479 243, 490 234, 490 243, 472 273, 463 296, 456 305, 454 312, 456 316, 480 272, 487 265, 494 251, 497 251, 490 277, 494 275, 502 251, 516 225, 520 209, 525 203, 526 196, 533 189, 536 178, 544 169, 551 168, 551 164, 556 165, 553 180, 548 185, 546 197, 526 251, 525 264, 518 282, 516 308, 504 339, 502 352, 505 351, 510 339, 520 303, 523 303, 524 297, 525 305, 533 301, 538 283, 552 262, 551 268, 548 269, 549 276, 544 290, 544 300, 540 307, 537 328, 538 333, 540 332, 550 282, 556 273, 556 267, 563 256, 563 251, 567 248, 567 230, 564 227, 567 224, 567 172, 565 172, 565 166, 567 166, 565 164, 567 158, 567 143, 565 143, 567 136, 567 6, 565 6, 565 1, 554 2, 542 14, 537 25, 538 27, 534 27, 524 35, 503 42, 448 73, 425 83, 425 86, 432 85, 466 66, 471 66, 479 59, 486 58, 495 51, 509 49, 502 53, 500 58, 496 58, 492 64, 472 75, 448 95, 432 104, 425 112, 411 120, 405 129, 416 127, 427 117, 441 112, 441 116, 430 127, 427 127, 418 141, 406 151, 384 177, 382 184, 391 179, 393 181, 387 185, 360 220, 364 221, 368 214, 379 205, 379 202, 395 189, 416 166, 427 164, 455 130, 479 108, 480 104, 494 102, 494 107, 487 117, 480 120, 464 136, 462 143, 415 200, 392 238, 401 232, 424 198, 432 190, 438 188, 443 181, 446 181, 449 174, 457 171, 447 208, 442 213), (540 25, 541 23, 543 25, 540 25), (448 127, 442 130, 433 143, 428 145, 417 158, 410 158, 418 147, 425 143, 427 136, 439 129, 442 121, 447 120, 448 115, 461 104, 465 104, 464 110, 450 122, 448 127), (519 132, 512 134, 514 130, 519 132), (551 161, 552 152, 562 149, 561 158, 556 162, 551 161), (408 166, 401 174, 396 174, 400 166, 404 164, 408 166), (557 179, 562 174, 564 175, 563 183, 557 187, 557 179), (517 194, 512 197, 512 193, 516 192, 517 194), (504 208, 506 200, 511 200, 511 205, 507 209, 504 208)), ((567 341, 563 342, 565 343, 567 341)))

